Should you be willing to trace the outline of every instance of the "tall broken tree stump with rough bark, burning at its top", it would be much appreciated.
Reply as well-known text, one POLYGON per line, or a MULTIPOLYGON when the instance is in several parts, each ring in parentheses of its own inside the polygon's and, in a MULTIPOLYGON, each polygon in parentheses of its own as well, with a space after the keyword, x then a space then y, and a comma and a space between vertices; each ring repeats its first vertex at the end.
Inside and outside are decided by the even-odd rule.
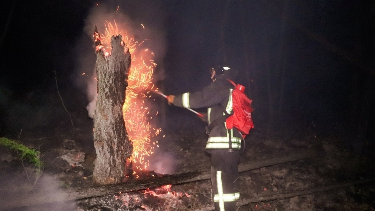
POLYGON ((98 99, 94 114, 94 146, 96 161, 93 182, 99 185, 123 181, 126 159, 132 154, 122 107, 130 68, 130 52, 121 35, 111 37, 111 55, 101 44, 95 26, 96 74, 98 99))

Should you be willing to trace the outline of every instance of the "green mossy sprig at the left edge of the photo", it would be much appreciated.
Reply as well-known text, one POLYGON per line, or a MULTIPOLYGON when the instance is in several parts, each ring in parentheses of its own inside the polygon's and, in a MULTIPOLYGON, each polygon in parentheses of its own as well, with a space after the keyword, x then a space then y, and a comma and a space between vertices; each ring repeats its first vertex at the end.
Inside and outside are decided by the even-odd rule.
POLYGON ((0 145, 8 147, 12 150, 17 151, 20 160, 27 159, 36 168, 41 169, 43 167, 43 162, 40 160, 40 152, 34 149, 30 149, 23 144, 16 141, 1 137, 0 145))

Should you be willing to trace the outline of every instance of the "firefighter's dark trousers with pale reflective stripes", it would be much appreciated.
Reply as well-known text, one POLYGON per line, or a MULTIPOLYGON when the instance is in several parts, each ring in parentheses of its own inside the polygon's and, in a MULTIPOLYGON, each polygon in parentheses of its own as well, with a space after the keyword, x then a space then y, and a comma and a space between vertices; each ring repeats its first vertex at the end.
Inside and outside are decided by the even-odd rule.
POLYGON ((240 198, 238 163, 240 151, 211 150, 211 182, 215 211, 236 211, 240 198))

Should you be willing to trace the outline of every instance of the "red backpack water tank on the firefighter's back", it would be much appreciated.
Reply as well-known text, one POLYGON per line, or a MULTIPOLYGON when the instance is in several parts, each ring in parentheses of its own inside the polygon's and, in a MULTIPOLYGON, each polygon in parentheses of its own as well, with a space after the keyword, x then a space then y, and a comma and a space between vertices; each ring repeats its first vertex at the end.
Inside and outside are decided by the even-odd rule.
POLYGON ((250 130, 254 128, 251 118, 251 112, 254 111, 251 107, 252 100, 244 93, 245 87, 243 85, 235 84, 229 79, 227 80, 234 85, 234 89, 232 91, 233 115, 226 118, 226 128, 232 129, 235 127, 242 133, 243 138, 245 138, 250 130))

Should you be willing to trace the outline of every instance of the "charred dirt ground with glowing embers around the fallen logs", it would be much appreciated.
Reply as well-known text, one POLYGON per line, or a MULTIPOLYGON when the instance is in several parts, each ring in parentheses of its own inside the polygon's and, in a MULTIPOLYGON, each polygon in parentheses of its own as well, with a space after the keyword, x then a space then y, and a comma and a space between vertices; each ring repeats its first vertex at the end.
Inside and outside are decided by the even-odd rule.
MULTIPOLYGON (((150 170, 159 174, 178 174, 208 171, 210 156, 204 146, 207 135, 204 123, 188 112, 174 121, 188 124, 163 130, 154 141, 159 147, 150 157, 150 170), (161 172, 165 171, 165 172, 161 172)), ((20 162, 17 154, 4 147, 1 152, 0 204, 17 198, 18 205, 0 207, 0 210, 72 210, 72 211, 167 211, 212 210, 211 181, 162 186, 146 190, 117 193, 77 201, 39 205, 23 205, 28 197, 42 192, 67 192, 92 186, 95 149, 92 141, 92 120, 85 112, 72 112, 75 132, 69 118, 54 121, 34 130, 19 133, 2 130, 1 135, 42 153, 45 163, 42 174, 27 163, 20 162), (2 202, 1 202, 2 201, 2 202)), ((169 116, 168 118, 172 118, 169 116)), ((168 124, 166 124, 168 126, 168 124)), ((174 125, 172 127, 171 125, 174 125)), ((256 162, 288 156, 302 150, 317 148, 318 157, 266 166, 240 174, 241 199, 239 211, 372 211, 375 210, 374 160, 371 152, 360 153, 348 147, 342 138, 332 134, 321 135, 317 127, 284 127, 270 130, 260 121, 246 138, 241 162, 256 162)), ((365 143, 366 144, 366 143, 365 143)), ((362 147, 362 149, 365 147, 362 147)), ((9 204, 9 203, 8 203, 9 204)))

